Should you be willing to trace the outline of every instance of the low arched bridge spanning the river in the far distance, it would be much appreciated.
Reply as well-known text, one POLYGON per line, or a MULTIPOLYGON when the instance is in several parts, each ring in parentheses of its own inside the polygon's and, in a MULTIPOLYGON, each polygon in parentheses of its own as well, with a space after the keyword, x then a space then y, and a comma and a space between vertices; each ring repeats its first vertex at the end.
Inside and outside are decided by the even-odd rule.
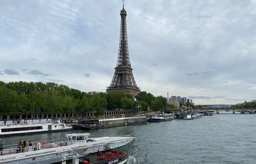
POLYGON ((256 112, 256 108, 241 108, 241 109, 239 109, 239 108, 199 108, 197 110, 200 112, 212 110, 212 111, 215 111, 216 114, 218 114, 220 111, 225 111, 225 110, 229 110, 229 111, 233 112, 233 114, 235 112, 249 112, 250 114, 253 114, 256 112))

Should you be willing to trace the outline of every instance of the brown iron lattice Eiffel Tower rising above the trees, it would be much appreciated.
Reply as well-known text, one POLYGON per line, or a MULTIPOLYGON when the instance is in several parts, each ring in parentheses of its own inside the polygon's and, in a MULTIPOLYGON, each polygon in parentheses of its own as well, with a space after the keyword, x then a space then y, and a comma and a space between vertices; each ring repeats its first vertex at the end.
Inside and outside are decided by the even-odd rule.
POLYGON ((113 79, 110 83, 110 86, 107 87, 106 91, 107 93, 123 91, 127 94, 132 94, 133 97, 135 97, 140 92, 140 88, 137 87, 134 76, 132 74, 132 67, 128 51, 126 15, 127 13, 126 10, 124 10, 123 2, 123 9, 120 10, 121 26, 118 59, 113 79))

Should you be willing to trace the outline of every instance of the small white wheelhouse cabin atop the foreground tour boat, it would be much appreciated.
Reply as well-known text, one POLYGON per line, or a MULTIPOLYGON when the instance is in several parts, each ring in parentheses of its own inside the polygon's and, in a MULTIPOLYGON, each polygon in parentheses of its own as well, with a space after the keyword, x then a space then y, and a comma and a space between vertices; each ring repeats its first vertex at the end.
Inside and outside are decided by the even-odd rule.
POLYGON ((67 145, 74 144, 82 144, 84 142, 88 142, 88 138, 90 133, 74 133, 74 134, 66 134, 65 139, 67 141, 67 145))

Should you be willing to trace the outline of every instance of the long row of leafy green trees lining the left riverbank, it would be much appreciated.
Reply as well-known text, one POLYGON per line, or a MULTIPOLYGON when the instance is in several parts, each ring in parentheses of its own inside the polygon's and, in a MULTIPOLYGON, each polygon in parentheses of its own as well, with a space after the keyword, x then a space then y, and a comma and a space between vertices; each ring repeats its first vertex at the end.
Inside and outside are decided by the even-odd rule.
POLYGON ((140 105, 142 111, 159 111, 170 108, 166 98, 155 97, 147 92, 140 92, 134 100, 124 92, 91 95, 80 90, 58 85, 54 82, 9 82, 0 81, 0 112, 11 114, 44 113, 84 113, 95 111, 96 116, 104 110, 135 110, 140 105))

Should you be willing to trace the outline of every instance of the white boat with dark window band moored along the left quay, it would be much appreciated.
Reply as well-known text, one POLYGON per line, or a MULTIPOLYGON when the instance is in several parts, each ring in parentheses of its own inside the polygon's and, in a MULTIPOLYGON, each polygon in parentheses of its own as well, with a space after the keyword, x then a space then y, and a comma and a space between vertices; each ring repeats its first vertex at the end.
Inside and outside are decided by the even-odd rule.
POLYGON ((54 123, 52 119, 41 120, 13 120, 0 121, 0 136, 16 136, 29 133, 56 132, 61 130, 72 130, 72 126, 66 126, 60 119, 54 123))

